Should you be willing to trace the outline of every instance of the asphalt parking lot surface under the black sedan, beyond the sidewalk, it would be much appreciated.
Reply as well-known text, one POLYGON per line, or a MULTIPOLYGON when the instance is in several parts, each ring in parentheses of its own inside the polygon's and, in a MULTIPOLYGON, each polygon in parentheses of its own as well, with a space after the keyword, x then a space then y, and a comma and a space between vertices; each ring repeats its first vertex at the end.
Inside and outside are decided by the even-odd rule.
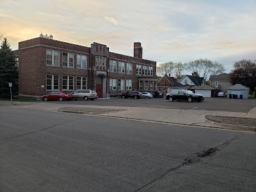
MULTIPOLYGON (((44 101, 42 101, 44 102, 44 101)), ((47 101, 58 102, 60 101, 47 101)), ((65 104, 97 105, 97 106, 126 106, 139 108, 164 108, 164 109, 193 109, 207 111, 232 111, 247 113, 256 107, 256 99, 227 99, 205 98, 202 102, 169 102, 165 98, 152 99, 95 99, 63 101, 65 104)))

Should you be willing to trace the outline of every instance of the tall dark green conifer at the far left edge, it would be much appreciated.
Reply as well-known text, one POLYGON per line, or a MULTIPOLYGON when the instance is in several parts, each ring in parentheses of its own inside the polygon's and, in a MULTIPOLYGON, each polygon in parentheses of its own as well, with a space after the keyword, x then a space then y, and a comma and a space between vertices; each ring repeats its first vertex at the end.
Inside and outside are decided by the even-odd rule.
POLYGON ((13 84, 13 94, 17 94, 18 79, 15 57, 7 38, 4 38, 0 49, 0 97, 10 97, 9 83, 13 84))

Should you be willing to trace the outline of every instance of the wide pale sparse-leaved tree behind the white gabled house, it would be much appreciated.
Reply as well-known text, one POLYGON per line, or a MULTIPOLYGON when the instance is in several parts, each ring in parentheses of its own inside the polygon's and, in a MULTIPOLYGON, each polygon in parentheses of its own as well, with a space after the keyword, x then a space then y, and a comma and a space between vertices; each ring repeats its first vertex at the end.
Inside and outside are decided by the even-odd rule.
POLYGON ((225 71, 224 65, 216 61, 208 59, 199 59, 190 61, 186 64, 186 70, 204 77, 205 80, 209 79, 211 75, 221 74, 225 71))

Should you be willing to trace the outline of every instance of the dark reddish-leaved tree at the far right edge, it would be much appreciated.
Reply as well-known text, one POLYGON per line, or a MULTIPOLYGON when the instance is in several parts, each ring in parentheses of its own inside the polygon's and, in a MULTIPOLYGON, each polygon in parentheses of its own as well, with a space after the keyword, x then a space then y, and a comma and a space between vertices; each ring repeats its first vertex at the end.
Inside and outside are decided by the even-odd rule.
POLYGON ((241 60, 234 63, 234 70, 230 72, 231 84, 243 84, 253 92, 256 87, 256 61, 241 60))

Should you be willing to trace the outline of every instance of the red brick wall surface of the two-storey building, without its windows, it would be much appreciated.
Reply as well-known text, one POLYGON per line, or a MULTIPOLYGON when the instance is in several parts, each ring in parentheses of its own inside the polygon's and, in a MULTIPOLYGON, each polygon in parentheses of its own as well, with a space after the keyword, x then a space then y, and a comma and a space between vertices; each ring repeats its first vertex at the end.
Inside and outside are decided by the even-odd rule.
MULTIPOLYGON (((109 52, 109 58, 106 60, 106 68, 109 68, 109 60, 124 61, 125 63, 132 63, 132 74, 108 73, 108 79, 131 79, 132 90, 138 90, 138 76, 136 75, 136 64, 147 65, 154 68, 152 78, 156 78, 156 61, 143 60, 134 58, 132 56, 125 56, 123 54, 116 54, 109 52)), ((81 45, 69 44, 57 40, 50 40, 46 38, 33 38, 19 42, 19 94, 22 95, 44 95, 46 90, 46 75, 60 76, 60 90, 62 90, 62 76, 74 76, 74 84, 76 84, 76 77, 87 77, 87 88, 95 89, 95 54, 91 54, 90 47, 81 45), (46 50, 51 49, 60 51, 60 67, 46 65, 46 50), (62 52, 74 53, 74 68, 62 67, 62 52), (85 54, 87 56, 88 70, 76 68, 76 55, 85 54), (90 69, 90 70, 89 70, 90 69), (44 88, 41 88, 44 85, 44 88)), ((148 78, 151 78, 148 76, 148 78)), ((107 81, 109 82, 109 81, 107 81)), ((116 84, 117 85, 117 84, 116 84)), ((109 86, 109 84, 107 85, 109 86)), ((124 90, 111 91, 111 94, 120 94, 124 90)))

